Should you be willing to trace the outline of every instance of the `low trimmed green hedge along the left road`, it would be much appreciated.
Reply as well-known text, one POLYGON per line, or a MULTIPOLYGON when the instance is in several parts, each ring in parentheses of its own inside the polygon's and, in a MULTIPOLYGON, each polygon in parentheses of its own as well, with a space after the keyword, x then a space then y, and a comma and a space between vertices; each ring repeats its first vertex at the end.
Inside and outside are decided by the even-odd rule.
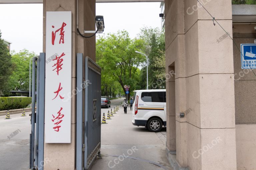
POLYGON ((31 97, 0 97, 0 111, 23 109, 31 104, 31 97))

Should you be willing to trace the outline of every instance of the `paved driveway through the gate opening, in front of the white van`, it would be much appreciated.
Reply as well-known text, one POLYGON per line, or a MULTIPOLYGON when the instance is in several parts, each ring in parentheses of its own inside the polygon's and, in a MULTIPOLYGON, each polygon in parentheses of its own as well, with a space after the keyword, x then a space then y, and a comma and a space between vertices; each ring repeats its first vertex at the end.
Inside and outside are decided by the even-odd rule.
MULTIPOLYGON (((107 110, 102 109, 102 114, 107 110)), ((166 158, 166 128, 154 133, 133 126, 130 108, 127 110, 124 114, 120 107, 111 120, 106 120, 108 124, 101 126, 103 157, 95 160, 91 170, 171 170, 166 158)))

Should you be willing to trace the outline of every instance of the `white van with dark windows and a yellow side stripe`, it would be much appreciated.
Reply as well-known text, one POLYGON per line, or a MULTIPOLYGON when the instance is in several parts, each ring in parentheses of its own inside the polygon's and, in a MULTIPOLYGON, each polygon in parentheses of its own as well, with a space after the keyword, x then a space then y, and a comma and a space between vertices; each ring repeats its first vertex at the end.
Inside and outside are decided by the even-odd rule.
POLYGON ((166 90, 135 90, 132 124, 159 132, 166 126, 166 90))

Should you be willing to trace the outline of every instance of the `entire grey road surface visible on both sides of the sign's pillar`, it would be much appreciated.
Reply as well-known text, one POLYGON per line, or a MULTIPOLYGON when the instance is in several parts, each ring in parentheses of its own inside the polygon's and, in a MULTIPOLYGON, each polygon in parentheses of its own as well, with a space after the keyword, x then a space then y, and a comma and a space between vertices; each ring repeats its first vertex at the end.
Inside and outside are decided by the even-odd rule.
MULTIPOLYGON (((123 99, 111 101, 111 108, 121 105, 123 99)), ((111 108, 102 108, 107 116, 111 108)), ((160 133, 149 132, 143 127, 133 126, 130 108, 123 108, 108 124, 101 126, 102 159, 96 159, 91 170, 163 170, 170 169, 166 158, 165 140, 160 133), (159 135, 160 134, 160 135, 159 135), (123 155, 118 158, 118 156, 123 155), (116 157, 117 156, 117 157, 116 157), (129 157, 128 157, 129 156, 129 157), (121 161, 120 161, 120 160, 121 161), (156 165, 157 164, 157 165, 156 165)), ((30 113, 11 115, 5 120, 0 116, 0 170, 27 170, 29 164, 30 113)), ((166 128, 163 128, 166 133, 166 128)))

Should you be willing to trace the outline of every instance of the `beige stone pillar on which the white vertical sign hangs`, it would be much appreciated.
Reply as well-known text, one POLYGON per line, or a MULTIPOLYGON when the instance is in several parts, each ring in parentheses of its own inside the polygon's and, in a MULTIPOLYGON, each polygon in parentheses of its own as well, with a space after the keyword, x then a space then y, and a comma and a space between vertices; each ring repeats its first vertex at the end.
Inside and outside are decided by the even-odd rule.
MULTIPOLYGON (((95 0, 79 0, 79 30, 95 30, 95 0)), ((45 52, 46 11, 72 12, 72 89, 76 89, 76 53, 83 53, 95 61, 95 37, 85 39, 78 35, 77 1, 76 0, 44 0, 43 1, 43 51, 45 52)), ((44 159, 49 160, 44 170, 74 170, 76 162, 76 98, 71 100, 71 143, 45 143, 44 159)))

